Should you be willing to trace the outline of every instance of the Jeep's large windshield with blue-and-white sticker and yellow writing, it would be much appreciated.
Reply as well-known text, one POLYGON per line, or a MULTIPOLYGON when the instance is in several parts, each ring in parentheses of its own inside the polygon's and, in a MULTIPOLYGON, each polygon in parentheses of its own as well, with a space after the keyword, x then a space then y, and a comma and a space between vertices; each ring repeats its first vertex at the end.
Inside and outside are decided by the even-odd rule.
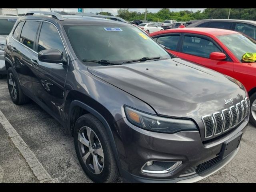
POLYGON ((133 25, 65 25, 80 60, 125 62, 140 58, 171 58, 168 52, 133 25))

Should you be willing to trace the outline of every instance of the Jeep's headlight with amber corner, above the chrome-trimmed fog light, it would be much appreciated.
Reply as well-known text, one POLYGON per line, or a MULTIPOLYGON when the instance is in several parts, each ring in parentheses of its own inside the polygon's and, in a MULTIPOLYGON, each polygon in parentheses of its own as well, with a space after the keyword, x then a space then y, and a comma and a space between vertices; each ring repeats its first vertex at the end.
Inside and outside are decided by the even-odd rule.
POLYGON ((131 124, 149 131, 176 133, 185 130, 198 130, 196 124, 191 120, 160 117, 127 106, 124 106, 124 111, 131 124))

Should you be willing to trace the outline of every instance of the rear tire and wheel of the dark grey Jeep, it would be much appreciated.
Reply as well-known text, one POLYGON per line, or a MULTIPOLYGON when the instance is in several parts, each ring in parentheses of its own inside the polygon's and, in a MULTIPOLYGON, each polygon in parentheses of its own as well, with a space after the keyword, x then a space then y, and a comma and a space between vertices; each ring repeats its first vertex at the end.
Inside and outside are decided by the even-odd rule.
POLYGON ((9 89, 9 93, 12 98, 12 101, 16 105, 25 104, 30 100, 28 98, 28 96, 26 96, 22 92, 22 90, 20 88, 20 84, 18 82, 17 77, 14 74, 14 69, 12 67, 8 68, 8 70, 7 70, 7 84, 8 84, 8 89, 9 89), (11 83, 10 79, 12 79, 12 83, 11 83))

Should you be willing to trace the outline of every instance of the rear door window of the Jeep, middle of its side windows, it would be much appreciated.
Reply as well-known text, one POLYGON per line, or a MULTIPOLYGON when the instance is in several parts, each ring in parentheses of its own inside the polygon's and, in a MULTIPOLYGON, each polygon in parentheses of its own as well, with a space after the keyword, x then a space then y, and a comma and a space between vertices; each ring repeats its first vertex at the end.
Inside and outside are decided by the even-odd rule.
POLYGON ((28 48, 33 49, 36 41, 36 33, 38 30, 39 21, 26 21, 20 35, 20 42, 28 48))

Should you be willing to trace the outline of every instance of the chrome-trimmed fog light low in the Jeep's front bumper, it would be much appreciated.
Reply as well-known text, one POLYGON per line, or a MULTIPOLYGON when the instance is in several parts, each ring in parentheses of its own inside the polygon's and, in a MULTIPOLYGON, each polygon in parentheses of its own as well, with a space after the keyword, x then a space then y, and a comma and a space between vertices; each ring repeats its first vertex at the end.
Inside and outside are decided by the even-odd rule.
POLYGON ((182 164, 182 161, 148 161, 146 162, 141 171, 150 174, 166 174, 182 164))

